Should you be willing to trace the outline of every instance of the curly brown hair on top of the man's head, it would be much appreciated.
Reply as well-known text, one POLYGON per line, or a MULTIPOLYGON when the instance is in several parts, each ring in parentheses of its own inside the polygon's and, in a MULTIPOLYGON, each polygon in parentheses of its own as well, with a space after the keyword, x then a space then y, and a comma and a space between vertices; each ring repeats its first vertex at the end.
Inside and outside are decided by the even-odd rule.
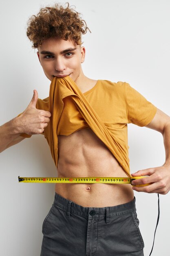
MULTIPOLYGON (((41 8, 37 16, 33 15, 28 20, 26 35, 33 43, 32 48, 38 48, 42 42, 49 38, 72 39, 77 45, 81 45, 81 33, 86 34, 85 20, 79 17, 74 9, 63 8, 59 4, 53 7, 41 8)), ((91 32, 91 31, 90 31, 91 32)))

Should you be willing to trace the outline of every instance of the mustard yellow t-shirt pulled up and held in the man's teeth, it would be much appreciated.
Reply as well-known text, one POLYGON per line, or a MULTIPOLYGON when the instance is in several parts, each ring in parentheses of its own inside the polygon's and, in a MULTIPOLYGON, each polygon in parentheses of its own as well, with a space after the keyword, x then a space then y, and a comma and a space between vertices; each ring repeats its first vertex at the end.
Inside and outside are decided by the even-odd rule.
MULTIPOLYGON (((98 80, 82 93, 69 77, 54 78, 49 97, 38 99, 37 108, 51 112, 44 136, 57 166, 57 135, 70 135, 91 128, 130 177, 127 124, 146 126, 157 108, 126 82, 98 80)), ((22 135, 31 137, 31 135, 22 135)))

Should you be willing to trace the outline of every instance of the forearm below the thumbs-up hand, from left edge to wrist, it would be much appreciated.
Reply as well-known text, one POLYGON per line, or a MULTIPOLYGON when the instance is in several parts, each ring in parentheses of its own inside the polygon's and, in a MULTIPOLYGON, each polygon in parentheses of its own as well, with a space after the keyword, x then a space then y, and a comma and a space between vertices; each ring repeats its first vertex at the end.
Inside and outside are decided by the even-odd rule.
POLYGON ((20 134, 17 117, 0 126, 0 153, 8 148, 12 141, 17 140, 20 134))

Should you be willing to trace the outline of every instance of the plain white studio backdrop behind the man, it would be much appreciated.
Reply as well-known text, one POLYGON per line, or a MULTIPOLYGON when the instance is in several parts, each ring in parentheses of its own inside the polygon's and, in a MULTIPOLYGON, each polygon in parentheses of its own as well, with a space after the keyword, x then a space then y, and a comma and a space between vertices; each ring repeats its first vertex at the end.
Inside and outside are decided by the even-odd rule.
MULTIPOLYGON (((3 1, 0 9, 0 125, 28 106, 36 89, 49 95, 44 75, 26 37, 28 18, 48 0, 3 1)), ((65 2, 61 2, 62 4, 65 2)), ((92 79, 126 81, 148 101, 170 115, 170 2, 169 0, 71 0, 91 32, 83 36, 84 74, 92 79)), ((102 103, 104 107, 104 102, 102 103)), ((165 150, 161 133, 128 125, 131 173, 161 166, 165 150)), ((38 256, 42 222, 54 199, 54 184, 18 183, 20 177, 56 177, 49 146, 33 135, 0 154, 0 248, 3 256, 38 256)), ((108 195, 110 196, 110 195, 108 195)), ((137 214, 149 255, 157 222, 157 194, 137 193, 137 214)), ((160 222, 153 256, 168 255, 170 193, 160 195, 160 222)))

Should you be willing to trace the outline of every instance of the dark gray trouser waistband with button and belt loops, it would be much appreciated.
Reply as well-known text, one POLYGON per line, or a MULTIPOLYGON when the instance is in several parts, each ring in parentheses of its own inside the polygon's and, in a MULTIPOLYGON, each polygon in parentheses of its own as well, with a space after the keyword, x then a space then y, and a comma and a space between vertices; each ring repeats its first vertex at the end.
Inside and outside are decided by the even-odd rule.
POLYGON ((106 224, 109 223, 109 217, 121 216, 130 212, 136 211, 136 198, 128 203, 119 204, 108 207, 83 207, 71 200, 63 198, 61 195, 55 193, 54 204, 66 211, 66 215, 70 218, 70 213, 75 213, 79 216, 86 216, 88 218, 106 218, 106 224))

